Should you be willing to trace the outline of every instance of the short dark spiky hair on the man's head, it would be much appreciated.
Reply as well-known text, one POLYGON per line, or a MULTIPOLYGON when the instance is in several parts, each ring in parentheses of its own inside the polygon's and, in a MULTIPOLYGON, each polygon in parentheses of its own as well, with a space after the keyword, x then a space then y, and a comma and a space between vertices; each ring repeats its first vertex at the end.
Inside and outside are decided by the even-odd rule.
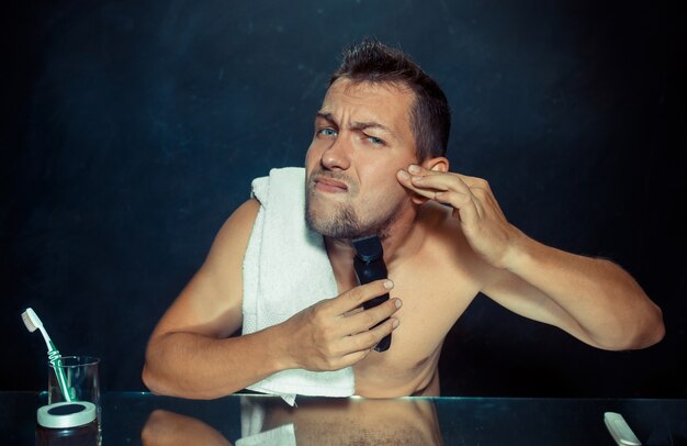
POLYGON ((415 93, 410 109, 410 130, 415 135, 419 161, 446 156, 451 131, 451 110, 439 85, 423 71, 409 56, 374 38, 347 47, 329 86, 345 77, 354 82, 404 85, 415 93))

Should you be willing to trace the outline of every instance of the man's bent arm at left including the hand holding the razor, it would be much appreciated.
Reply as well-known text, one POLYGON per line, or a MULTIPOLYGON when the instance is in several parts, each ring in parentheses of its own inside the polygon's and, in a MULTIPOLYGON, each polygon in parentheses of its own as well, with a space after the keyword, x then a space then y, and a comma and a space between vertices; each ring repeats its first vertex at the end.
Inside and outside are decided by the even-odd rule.
POLYGON ((280 370, 337 370, 363 359, 397 325, 392 299, 350 316, 362 302, 388 292, 390 281, 324 299, 269 328, 227 337, 241 324, 243 261, 259 203, 232 214, 210 254, 155 327, 144 383, 155 393, 211 399, 234 393, 280 370))

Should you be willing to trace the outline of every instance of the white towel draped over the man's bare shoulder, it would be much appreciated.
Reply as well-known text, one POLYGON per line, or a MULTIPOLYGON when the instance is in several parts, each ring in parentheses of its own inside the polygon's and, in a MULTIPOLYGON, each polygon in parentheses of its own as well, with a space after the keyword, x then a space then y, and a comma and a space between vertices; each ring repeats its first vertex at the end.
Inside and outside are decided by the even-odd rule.
MULTIPOLYGON (((323 237, 305 223, 305 169, 272 169, 252 181, 252 196, 261 205, 244 259, 244 334, 338 294, 323 237)), ((248 387, 292 405, 295 394, 350 397, 354 388, 350 367, 283 370, 248 387)))

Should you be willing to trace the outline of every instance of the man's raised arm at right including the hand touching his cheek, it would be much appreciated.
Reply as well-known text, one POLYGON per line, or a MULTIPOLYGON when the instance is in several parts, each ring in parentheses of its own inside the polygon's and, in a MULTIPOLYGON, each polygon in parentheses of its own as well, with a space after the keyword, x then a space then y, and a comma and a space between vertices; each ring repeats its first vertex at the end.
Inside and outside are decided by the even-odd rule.
POLYGON ((453 207, 473 250, 492 268, 483 292, 529 319, 605 349, 642 348, 664 335, 661 310, 617 265, 542 245, 509 224, 488 183, 409 168, 402 185, 453 207))

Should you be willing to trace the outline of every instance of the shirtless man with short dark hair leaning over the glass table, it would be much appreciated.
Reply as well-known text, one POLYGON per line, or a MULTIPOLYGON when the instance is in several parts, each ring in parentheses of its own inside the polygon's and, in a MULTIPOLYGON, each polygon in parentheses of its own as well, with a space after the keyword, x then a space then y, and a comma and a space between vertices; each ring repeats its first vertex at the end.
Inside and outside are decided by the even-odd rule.
POLYGON ((443 338, 478 292, 598 348, 658 342, 661 310, 627 272, 529 238, 485 180, 449 171, 449 125, 446 96, 405 55, 374 41, 349 48, 305 160, 307 224, 324 236, 339 294, 228 337, 241 325, 243 260, 260 209, 251 199, 155 328, 146 386, 216 398, 281 370, 352 366, 357 394, 437 395, 443 338), (388 280, 358 286, 350 241, 369 234, 382 239, 388 280), (374 352, 392 332, 392 347, 374 352))

